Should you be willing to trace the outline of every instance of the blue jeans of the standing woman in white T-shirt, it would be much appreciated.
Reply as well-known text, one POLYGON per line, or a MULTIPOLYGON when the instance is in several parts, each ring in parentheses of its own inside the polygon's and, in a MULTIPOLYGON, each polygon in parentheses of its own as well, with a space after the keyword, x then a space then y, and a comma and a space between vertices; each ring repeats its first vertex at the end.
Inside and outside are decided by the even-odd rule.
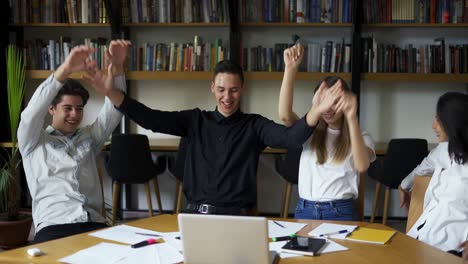
POLYGON ((357 213, 353 199, 314 202, 299 198, 294 218, 353 221, 357 219, 357 213))

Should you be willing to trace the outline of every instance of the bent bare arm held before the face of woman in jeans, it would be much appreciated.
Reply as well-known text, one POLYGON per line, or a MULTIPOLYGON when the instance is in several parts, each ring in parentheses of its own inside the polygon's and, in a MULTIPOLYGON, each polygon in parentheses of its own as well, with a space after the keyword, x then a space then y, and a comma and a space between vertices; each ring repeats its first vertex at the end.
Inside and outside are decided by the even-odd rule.
POLYGON ((374 151, 364 143, 364 138, 362 136, 356 114, 356 96, 351 92, 345 92, 336 105, 336 111, 343 111, 346 122, 348 123, 354 168, 359 172, 365 172, 369 168, 371 158, 375 154, 374 151))

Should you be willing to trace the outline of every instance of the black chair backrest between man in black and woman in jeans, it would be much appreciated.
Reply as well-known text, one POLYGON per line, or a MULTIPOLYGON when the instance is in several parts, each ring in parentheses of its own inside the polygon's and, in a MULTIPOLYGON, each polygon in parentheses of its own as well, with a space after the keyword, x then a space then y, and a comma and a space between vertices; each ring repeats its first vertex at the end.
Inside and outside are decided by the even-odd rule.
POLYGON ((299 162, 301 160, 302 148, 288 149, 285 157, 276 156, 276 171, 287 181, 297 184, 299 178, 299 162))

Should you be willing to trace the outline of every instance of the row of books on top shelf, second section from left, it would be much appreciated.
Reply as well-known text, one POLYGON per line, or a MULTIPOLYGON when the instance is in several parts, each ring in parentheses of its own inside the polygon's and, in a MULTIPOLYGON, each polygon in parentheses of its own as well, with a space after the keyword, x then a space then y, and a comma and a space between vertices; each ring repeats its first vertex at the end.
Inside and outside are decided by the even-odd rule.
POLYGON ((121 0, 123 23, 229 23, 228 0, 121 0))

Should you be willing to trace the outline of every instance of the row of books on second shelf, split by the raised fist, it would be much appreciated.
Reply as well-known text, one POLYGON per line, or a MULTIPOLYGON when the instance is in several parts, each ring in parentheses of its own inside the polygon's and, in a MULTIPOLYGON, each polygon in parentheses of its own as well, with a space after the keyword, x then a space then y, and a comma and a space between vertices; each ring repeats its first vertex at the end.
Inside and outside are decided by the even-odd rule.
MULTIPOLYGON (((273 48, 262 46, 243 48, 241 65, 246 71, 281 72, 284 71, 284 50, 291 44, 277 43, 273 48)), ((327 41, 304 45, 301 72, 350 72, 351 44, 344 40, 340 43, 327 41)))

